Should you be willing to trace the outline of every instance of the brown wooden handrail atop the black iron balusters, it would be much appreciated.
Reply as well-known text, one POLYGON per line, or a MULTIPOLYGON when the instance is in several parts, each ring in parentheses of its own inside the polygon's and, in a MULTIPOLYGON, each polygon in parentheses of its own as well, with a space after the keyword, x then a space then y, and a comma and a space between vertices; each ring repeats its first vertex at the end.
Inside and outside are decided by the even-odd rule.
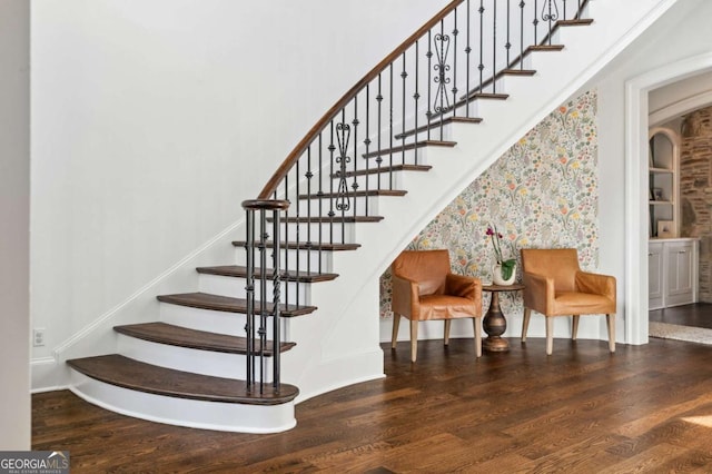
POLYGON ((415 43, 417 39, 419 39, 423 34, 425 34, 431 28, 437 24, 438 21, 444 19, 449 12, 452 12, 455 8, 457 8, 465 0, 453 0, 447 7, 443 8, 435 17, 428 20, 425 24, 423 24, 415 33, 411 34, 404 42, 400 43, 393 52, 386 56, 376 67, 374 67, 363 79, 360 79, 354 87, 352 87, 348 92, 346 92, 330 109, 326 111, 324 117, 316 122, 314 127, 305 135, 305 137, 297 144, 297 146, 291 150, 287 158, 279 165, 279 168, 271 176, 267 185, 263 188, 261 192, 258 196, 258 199, 270 199, 271 195, 277 190, 277 187, 283 181, 284 177, 289 172, 291 167, 299 160, 301 155, 306 151, 307 147, 316 140, 319 132, 324 130, 324 128, 328 125, 328 122, 336 117, 344 107, 348 105, 348 102, 360 92, 366 85, 368 85, 372 80, 374 80, 380 72, 383 72, 388 65, 396 60, 400 55, 403 55, 411 46, 415 43))

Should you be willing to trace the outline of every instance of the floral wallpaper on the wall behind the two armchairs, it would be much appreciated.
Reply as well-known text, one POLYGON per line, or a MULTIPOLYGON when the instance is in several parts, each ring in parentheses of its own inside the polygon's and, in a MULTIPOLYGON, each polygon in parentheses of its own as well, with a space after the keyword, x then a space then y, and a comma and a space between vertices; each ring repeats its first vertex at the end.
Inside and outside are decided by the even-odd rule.
MULTIPOLYGON (((454 273, 491 280, 495 257, 486 231, 495 225, 503 235, 504 258, 517 258, 517 280, 520 249, 526 247, 574 247, 582 268, 595 269, 595 91, 558 107, 443 209, 407 248, 448 248, 454 273)), ((503 294, 501 304, 506 314, 522 314, 520 292, 503 294)), ((380 277, 380 315, 393 316, 389 270, 380 277)))

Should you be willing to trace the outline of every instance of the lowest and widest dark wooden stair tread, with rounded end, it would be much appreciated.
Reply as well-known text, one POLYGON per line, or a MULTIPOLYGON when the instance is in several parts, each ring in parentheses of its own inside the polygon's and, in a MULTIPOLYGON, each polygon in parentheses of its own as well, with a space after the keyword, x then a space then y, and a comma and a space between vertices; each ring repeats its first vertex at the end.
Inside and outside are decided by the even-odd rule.
POLYGON ((278 392, 271 384, 265 384, 264 393, 259 393, 259 387, 248 393, 245 381, 175 371, 118 354, 70 359, 67 364, 75 371, 107 384, 178 398, 279 405, 291 402, 299 394, 299 389, 289 384, 281 384, 278 392))

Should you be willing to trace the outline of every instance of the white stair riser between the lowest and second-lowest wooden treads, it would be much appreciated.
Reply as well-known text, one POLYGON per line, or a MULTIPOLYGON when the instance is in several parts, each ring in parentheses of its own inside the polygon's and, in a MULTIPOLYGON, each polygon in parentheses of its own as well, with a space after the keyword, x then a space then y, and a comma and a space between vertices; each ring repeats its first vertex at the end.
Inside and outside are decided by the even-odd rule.
MULTIPOLYGON (((194 374, 243 381, 247 378, 247 362, 246 356, 243 354, 217 353, 171 346, 130 337, 123 334, 119 334, 118 336, 119 354, 136 361, 176 371, 191 372, 194 374)), ((261 373, 259 371, 259 364, 257 363, 255 374, 257 379, 260 379, 261 374, 265 382, 271 382, 271 357, 264 358, 261 373)))

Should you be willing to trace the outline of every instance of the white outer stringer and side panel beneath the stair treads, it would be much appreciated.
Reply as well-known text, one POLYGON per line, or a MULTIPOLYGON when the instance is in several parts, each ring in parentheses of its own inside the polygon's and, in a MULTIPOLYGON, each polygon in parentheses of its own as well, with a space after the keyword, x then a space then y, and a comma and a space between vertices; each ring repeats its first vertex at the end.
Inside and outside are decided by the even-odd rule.
MULTIPOLYGON (((390 261, 447 203, 552 110, 584 88, 675 1, 592 1, 593 24, 562 29, 565 48, 560 52, 533 53, 537 73, 507 78, 510 99, 482 101, 482 124, 453 124, 455 148, 428 148, 433 169, 409 174, 406 196, 379 203, 384 221, 360 226, 357 241, 362 247, 335 260, 340 276, 329 284, 328 292, 315 289, 314 302, 319 307, 316 314, 290 320, 288 338, 298 346, 284 358, 283 374, 285 382, 299 386, 297 402, 383 376, 383 361, 378 357, 378 282, 390 261)), ((535 333, 534 336, 543 336, 535 333)), ((428 337, 427 332, 424 336, 428 337)), ((581 337, 602 335, 596 328, 581 337)))

